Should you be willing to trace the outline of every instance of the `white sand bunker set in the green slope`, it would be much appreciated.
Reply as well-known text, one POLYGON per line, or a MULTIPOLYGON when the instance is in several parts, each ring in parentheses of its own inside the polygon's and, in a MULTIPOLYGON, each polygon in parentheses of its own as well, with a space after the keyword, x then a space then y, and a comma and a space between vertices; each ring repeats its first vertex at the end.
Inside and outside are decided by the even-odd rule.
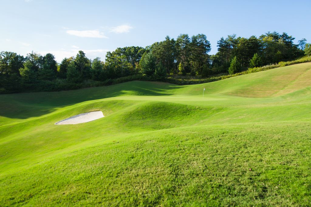
POLYGON ((94 121, 96 119, 103 118, 103 112, 101 111, 92 111, 92 112, 87 112, 83 114, 78 114, 72 117, 69 117, 67 119, 63 119, 59 122, 56 122, 55 124, 80 124, 80 123, 85 123, 89 121, 94 121))

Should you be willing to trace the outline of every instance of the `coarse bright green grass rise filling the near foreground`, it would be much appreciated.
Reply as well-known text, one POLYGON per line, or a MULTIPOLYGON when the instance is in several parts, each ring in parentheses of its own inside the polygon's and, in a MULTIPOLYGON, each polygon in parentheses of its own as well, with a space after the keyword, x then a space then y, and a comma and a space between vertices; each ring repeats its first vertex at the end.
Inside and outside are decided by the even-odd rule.
POLYGON ((2 177, 1 199, 30 206, 307 206, 310 124, 269 125, 116 137, 2 177))

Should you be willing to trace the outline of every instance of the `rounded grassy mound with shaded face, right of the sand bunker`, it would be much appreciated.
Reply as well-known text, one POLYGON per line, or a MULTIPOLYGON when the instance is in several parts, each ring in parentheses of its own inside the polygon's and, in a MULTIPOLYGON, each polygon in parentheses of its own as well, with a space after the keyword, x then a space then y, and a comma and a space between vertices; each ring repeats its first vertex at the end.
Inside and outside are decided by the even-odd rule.
POLYGON ((120 124, 128 130, 138 131, 175 128, 197 124, 219 113, 222 108, 189 106, 169 102, 144 102, 125 113, 120 124))

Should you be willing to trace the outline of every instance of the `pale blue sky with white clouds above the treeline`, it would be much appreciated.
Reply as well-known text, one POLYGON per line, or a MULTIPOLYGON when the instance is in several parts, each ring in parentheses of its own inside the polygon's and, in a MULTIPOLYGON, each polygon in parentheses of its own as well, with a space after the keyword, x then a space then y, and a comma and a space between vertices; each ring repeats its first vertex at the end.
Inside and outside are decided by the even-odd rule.
POLYGON ((311 42, 311 1, 57 1, 0 0, 0 51, 51 52, 58 62, 76 55, 101 57, 117 47, 151 45, 181 33, 217 40, 267 31, 311 42))

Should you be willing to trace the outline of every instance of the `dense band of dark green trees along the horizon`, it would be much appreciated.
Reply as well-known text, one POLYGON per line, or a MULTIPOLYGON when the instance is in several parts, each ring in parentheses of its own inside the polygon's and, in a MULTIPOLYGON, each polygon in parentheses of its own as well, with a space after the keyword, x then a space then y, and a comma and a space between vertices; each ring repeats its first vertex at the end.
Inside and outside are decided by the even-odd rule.
MULTIPOLYGON (((228 35, 217 42, 218 52, 209 55, 211 44, 205 34, 189 37, 180 34, 176 40, 165 37, 161 42, 143 47, 117 48, 100 58, 90 60, 83 51, 57 63, 53 54, 35 52, 26 57, 14 52, 0 53, 0 92, 51 91, 81 88, 84 83, 98 83, 140 74, 149 80, 167 75, 201 76, 234 74, 311 55, 311 44, 301 39, 294 44, 286 33, 267 32, 257 38, 228 35)), ((138 77, 138 76, 137 76, 138 77)))

